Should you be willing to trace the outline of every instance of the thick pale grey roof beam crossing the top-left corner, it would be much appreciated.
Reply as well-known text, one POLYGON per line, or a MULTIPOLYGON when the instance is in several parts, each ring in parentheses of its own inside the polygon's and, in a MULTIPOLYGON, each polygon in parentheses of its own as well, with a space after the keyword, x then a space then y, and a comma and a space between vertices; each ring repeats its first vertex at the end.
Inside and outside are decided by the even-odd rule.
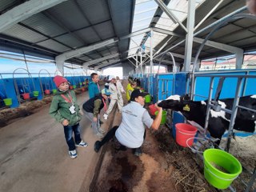
POLYGON ((22 22, 33 14, 38 14, 42 10, 47 10, 66 0, 30 0, 15 6, 0 16, 0 33, 22 22))

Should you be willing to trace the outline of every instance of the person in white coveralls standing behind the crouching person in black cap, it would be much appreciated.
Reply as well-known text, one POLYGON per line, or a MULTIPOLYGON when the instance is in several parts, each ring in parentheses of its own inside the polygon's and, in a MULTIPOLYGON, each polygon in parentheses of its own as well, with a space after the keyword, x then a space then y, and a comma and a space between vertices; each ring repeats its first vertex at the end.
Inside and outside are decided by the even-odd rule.
POLYGON ((121 113, 122 106, 123 106, 122 93, 125 93, 121 82, 117 82, 114 76, 110 75, 109 80, 110 80, 109 90, 111 93, 111 101, 110 101, 110 106, 106 110, 106 114, 103 115, 104 119, 107 119, 108 115, 113 110, 114 104, 116 102, 118 102, 118 110, 119 110, 119 113, 121 113))

